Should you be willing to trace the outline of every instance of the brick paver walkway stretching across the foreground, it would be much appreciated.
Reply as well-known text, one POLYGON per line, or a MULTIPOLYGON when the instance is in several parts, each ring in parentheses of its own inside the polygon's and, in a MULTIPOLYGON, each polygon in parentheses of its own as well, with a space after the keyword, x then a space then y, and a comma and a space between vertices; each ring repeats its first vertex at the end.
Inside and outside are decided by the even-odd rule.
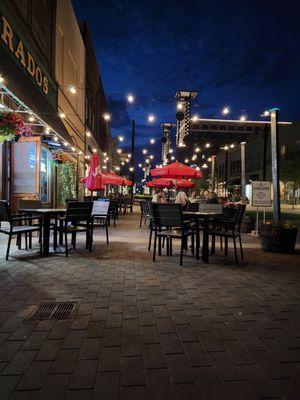
POLYGON ((137 216, 39 258, 4 260, 0 237, 0 399, 300 399, 299 256, 245 262, 159 258, 137 216), (80 242, 80 241, 79 241, 80 242), (82 241, 81 241, 82 244, 82 241), (42 302, 72 319, 32 321, 42 302))

